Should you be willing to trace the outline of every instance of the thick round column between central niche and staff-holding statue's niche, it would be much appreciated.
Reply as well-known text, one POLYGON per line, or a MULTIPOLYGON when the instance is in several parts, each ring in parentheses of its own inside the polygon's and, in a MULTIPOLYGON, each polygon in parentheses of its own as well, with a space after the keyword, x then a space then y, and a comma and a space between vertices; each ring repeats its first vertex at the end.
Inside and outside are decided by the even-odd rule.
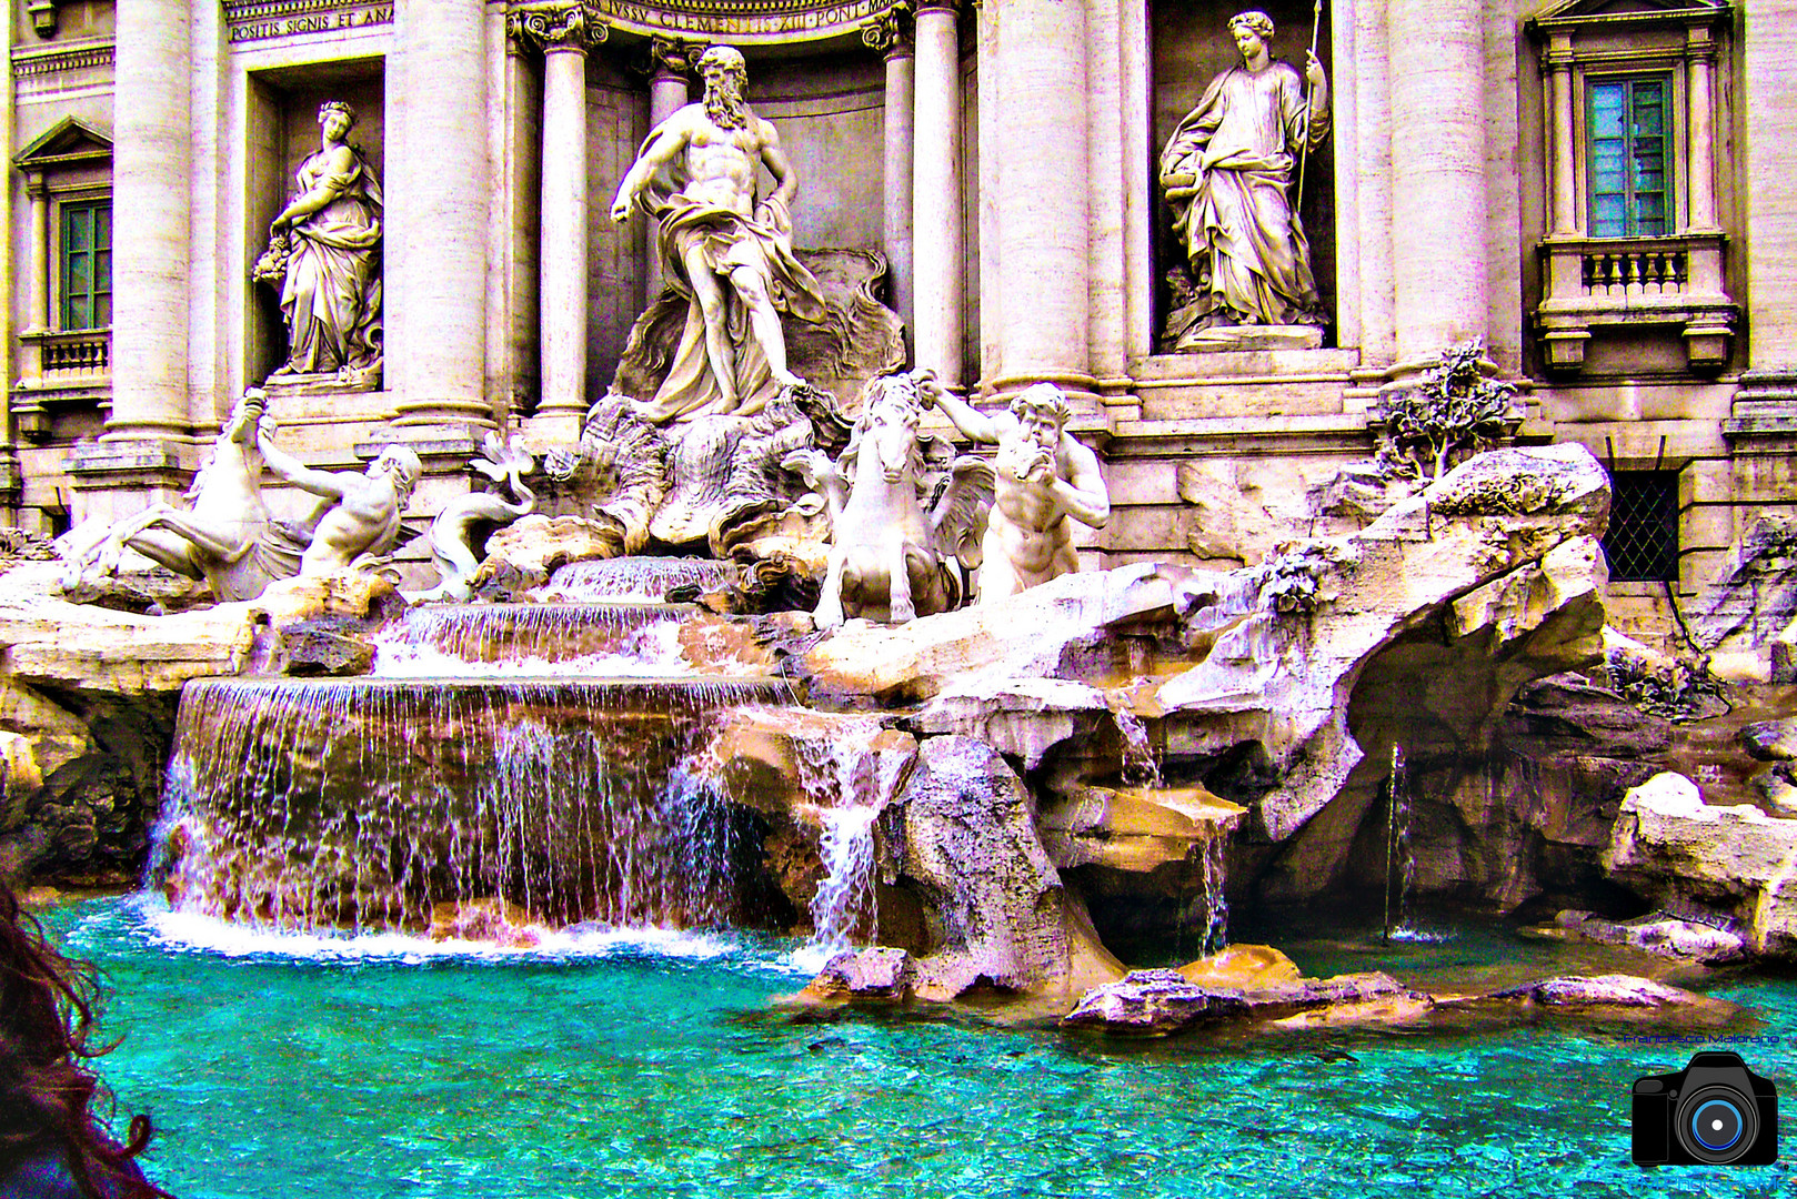
MULTIPOLYGON (((999 165, 997 288, 1001 363, 988 383, 1014 392, 1060 383, 1094 408, 1087 334, 1089 162, 1085 13, 1066 0, 987 0, 1005 54, 992 111, 999 165)), ((918 18, 918 97, 924 95, 924 20, 918 18)), ((981 68, 992 67, 981 63, 981 68)), ((985 99, 985 90, 981 90, 985 99)), ((992 122, 990 126, 987 122, 992 122)), ((918 122, 918 140, 924 140, 918 122)), ((922 182, 922 180, 920 180, 922 182)), ((922 187, 918 196, 922 198, 922 187)), ((918 228, 929 228, 918 209, 918 228)), ((920 241, 920 244, 924 244, 920 241)), ((918 255, 922 259, 922 255, 918 255)), ((918 306, 922 307, 922 270, 918 306)))

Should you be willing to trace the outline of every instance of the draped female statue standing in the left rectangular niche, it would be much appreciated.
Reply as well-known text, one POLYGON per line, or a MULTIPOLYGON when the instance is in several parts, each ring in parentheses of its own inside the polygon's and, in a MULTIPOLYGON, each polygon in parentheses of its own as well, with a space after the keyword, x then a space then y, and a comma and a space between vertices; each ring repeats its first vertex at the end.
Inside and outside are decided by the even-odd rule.
POLYGON ((268 226, 253 277, 280 289, 288 361, 271 379, 334 374, 374 386, 381 372, 381 185, 350 146, 356 110, 318 110, 322 146, 298 171, 298 196, 268 226))

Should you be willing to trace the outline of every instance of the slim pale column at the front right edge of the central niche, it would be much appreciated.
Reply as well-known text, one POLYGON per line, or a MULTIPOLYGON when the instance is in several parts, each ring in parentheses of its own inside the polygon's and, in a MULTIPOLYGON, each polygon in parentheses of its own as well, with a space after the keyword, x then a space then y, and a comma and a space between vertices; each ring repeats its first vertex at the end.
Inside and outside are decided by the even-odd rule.
MULTIPOLYGON (((967 340, 961 207, 961 56, 956 0, 924 0, 916 11, 916 79, 911 176, 911 271, 916 291, 916 365, 951 386, 961 383, 967 340), (924 230, 916 237, 916 230, 924 230)), ((1084 248, 1084 246, 1082 246, 1084 248)), ((1084 334, 1082 334, 1084 340, 1084 334)))

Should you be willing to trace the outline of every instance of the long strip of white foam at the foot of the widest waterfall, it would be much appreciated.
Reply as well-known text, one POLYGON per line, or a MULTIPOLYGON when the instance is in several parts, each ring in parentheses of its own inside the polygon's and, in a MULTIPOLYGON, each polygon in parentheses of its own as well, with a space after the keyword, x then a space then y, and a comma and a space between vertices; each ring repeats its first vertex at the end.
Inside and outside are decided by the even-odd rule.
POLYGON ((485 940, 431 940, 413 933, 289 933, 268 926, 234 924, 198 911, 171 910, 160 895, 137 895, 133 906, 144 919, 146 940, 173 953, 212 953, 225 958, 288 958, 293 962, 356 964, 385 962, 417 965, 444 958, 503 962, 609 958, 651 955, 708 962, 739 955, 748 946, 722 933, 667 928, 528 926, 518 929, 537 938, 534 946, 501 946, 485 940))

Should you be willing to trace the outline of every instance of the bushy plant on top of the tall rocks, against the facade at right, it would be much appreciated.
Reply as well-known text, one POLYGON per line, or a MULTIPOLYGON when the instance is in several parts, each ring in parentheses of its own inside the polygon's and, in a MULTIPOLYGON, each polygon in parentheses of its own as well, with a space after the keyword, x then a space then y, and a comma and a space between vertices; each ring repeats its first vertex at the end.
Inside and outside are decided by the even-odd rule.
POLYGON ((1441 363, 1385 403, 1385 437, 1429 478, 1447 475, 1454 455, 1477 453, 1517 424, 1517 388, 1481 370, 1484 342, 1441 352, 1441 363))

